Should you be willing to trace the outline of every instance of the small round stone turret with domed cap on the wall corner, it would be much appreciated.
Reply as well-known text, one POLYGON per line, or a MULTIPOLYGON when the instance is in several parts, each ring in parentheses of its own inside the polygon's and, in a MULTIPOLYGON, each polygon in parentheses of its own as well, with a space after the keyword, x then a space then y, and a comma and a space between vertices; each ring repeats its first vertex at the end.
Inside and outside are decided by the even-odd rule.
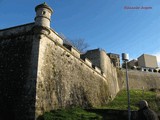
POLYGON ((53 10, 46 4, 36 6, 35 25, 50 28, 51 14, 53 10))

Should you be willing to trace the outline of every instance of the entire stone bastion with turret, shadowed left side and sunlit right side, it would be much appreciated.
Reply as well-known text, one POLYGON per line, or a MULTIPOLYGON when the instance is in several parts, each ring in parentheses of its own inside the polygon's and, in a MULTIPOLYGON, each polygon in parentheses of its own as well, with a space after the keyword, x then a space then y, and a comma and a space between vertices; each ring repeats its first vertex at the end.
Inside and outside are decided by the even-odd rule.
POLYGON ((52 109, 99 107, 112 100, 124 73, 104 50, 81 55, 64 46, 46 23, 51 8, 41 4, 36 11, 35 23, 0 30, 0 119, 34 120, 52 109))

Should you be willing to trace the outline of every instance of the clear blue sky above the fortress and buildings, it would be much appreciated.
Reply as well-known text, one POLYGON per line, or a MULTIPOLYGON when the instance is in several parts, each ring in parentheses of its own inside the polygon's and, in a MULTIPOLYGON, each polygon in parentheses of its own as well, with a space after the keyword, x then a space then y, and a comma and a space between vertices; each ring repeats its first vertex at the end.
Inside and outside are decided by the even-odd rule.
POLYGON ((156 55, 160 62, 160 0, 0 0, 0 29, 34 21, 36 5, 53 10, 51 27, 69 39, 85 39, 89 49, 156 55), (124 9, 124 7, 151 9, 124 9))

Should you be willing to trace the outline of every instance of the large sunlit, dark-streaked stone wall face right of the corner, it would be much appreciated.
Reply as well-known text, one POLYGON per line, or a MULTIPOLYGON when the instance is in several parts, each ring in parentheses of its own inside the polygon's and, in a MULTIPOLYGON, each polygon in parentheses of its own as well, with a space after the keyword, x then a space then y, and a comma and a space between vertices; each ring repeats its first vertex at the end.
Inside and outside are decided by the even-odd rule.
POLYGON ((36 114, 57 108, 106 104, 108 80, 62 45, 40 39, 36 114))

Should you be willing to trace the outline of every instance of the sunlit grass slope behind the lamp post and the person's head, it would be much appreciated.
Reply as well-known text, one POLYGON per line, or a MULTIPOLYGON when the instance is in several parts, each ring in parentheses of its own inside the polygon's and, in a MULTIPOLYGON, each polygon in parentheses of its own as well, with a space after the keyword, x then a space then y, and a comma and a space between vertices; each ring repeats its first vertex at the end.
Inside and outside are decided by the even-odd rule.
MULTIPOLYGON (((136 103, 140 100, 147 100, 151 109, 159 111, 158 102, 156 99, 156 93, 152 91, 142 91, 142 90, 130 90, 130 106, 131 110, 137 110, 136 103)), ((127 92, 126 90, 120 91, 116 98, 111 101, 106 106, 102 107, 104 109, 117 109, 117 110, 127 110, 127 92)))

